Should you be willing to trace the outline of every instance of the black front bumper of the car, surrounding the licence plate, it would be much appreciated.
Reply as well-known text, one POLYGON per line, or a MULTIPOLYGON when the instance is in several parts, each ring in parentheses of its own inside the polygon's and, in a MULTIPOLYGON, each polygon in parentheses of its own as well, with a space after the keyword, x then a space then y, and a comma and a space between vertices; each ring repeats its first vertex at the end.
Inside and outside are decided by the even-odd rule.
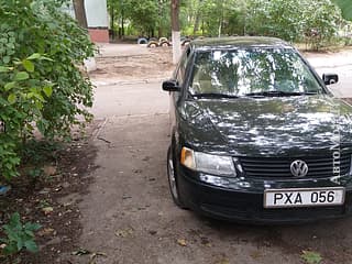
MULTIPOLYGON (((235 179, 226 186, 200 180, 201 174, 183 166, 178 169, 178 188, 184 202, 194 211, 212 218, 251 223, 298 223, 343 218, 352 213, 351 176, 339 184, 329 179, 261 180, 235 179), (265 188, 345 187, 343 206, 307 208, 263 207, 265 188)), ((224 184, 226 185, 226 184, 224 184)))

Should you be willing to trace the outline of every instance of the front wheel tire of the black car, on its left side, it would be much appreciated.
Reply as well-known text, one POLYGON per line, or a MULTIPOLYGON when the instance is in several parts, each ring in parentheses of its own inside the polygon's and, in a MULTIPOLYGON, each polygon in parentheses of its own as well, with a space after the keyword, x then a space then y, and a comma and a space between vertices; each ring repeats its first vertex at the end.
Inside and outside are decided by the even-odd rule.
POLYGON ((167 150, 167 179, 168 179, 168 187, 169 193, 173 197, 173 200, 176 206, 180 209, 188 209, 183 201, 183 197, 179 195, 178 191, 178 184, 177 184, 177 172, 175 167, 175 158, 174 152, 172 151, 172 146, 167 150))

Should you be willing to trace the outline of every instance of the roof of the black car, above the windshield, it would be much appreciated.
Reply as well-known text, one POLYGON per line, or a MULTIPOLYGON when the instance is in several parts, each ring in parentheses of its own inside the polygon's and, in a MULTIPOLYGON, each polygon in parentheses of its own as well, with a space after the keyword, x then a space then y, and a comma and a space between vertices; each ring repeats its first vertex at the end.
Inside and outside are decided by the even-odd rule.
POLYGON ((197 51, 232 48, 294 48, 285 41, 267 36, 205 37, 190 43, 197 51))

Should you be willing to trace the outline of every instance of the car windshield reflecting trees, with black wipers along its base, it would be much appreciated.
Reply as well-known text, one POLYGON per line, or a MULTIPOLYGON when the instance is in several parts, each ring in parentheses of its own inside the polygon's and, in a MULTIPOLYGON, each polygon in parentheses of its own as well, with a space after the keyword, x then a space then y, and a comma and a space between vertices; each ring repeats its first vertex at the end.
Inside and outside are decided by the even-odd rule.
POLYGON ((193 96, 296 96, 326 91, 292 48, 202 51, 196 56, 193 96))

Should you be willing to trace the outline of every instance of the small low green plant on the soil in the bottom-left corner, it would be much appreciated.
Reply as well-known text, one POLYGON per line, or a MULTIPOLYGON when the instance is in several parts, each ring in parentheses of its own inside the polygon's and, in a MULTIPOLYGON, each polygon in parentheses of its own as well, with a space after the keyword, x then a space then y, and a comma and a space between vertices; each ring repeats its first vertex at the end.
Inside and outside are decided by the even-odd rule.
POLYGON ((37 252, 37 245, 34 241, 34 231, 41 228, 37 223, 22 223, 20 215, 14 212, 9 222, 2 227, 7 238, 0 241, 6 244, 2 250, 4 255, 13 255, 22 250, 35 253, 37 252))

